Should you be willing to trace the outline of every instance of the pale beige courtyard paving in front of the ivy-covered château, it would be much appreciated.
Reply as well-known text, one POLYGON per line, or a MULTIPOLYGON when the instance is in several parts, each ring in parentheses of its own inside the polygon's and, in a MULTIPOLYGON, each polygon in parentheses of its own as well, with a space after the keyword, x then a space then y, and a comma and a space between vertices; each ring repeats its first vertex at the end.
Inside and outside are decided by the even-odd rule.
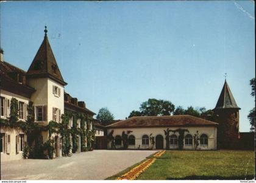
POLYGON ((153 153, 155 151, 94 150, 52 160, 1 162, 1 179, 102 180, 153 153))

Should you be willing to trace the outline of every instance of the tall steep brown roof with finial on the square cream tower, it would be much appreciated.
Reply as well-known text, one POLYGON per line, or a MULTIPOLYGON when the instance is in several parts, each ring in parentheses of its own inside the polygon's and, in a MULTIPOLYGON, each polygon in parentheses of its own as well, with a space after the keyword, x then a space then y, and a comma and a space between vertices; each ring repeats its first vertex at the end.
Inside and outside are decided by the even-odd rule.
POLYGON ((55 60, 47 32, 48 31, 45 26, 43 43, 41 43, 41 46, 39 47, 37 54, 27 71, 27 76, 33 78, 48 77, 62 85, 67 85, 63 80, 57 61, 55 60))

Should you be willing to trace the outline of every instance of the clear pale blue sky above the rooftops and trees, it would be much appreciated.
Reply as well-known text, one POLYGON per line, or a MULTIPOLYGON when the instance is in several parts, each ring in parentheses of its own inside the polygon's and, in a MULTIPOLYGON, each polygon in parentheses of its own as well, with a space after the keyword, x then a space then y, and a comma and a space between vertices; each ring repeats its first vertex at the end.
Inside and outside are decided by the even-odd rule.
POLYGON ((249 131, 253 1, 2 2, 0 20, 4 58, 25 71, 46 24, 66 92, 96 113, 124 119, 148 98, 213 109, 227 72, 249 131))

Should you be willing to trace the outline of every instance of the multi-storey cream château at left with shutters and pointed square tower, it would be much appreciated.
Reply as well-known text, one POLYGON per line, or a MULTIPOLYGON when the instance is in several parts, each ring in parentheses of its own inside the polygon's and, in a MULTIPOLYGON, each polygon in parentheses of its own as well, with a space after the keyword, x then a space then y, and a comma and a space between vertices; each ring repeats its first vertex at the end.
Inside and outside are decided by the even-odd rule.
MULTIPOLYGON (((47 126, 50 129, 51 124, 55 124, 54 127, 51 127, 54 130, 50 131, 46 128, 41 130, 38 138, 34 142, 30 142, 30 145, 48 142, 50 139, 54 147, 54 157, 62 156, 63 145, 69 142, 70 154, 71 150, 73 153, 84 151, 88 141, 86 134, 93 130, 92 117, 94 112, 87 109, 84 102, 78 102, 77 98, 70 95, 68 97, 68 94, 65 93, 64 88, 67 83, 63 80, 55 60, 49 44, 47 30, 44 30, 43 42, 27 72, 5 61, 2 49, 0 66, 1 161, 23 157, 24 148, 28 145, 29 137, 24 131, 24 125, 19 126, 17 124, 18 122, 23 124, 22 122, 26 123, 29 120, 27 119, 29 103, 32 104, 32 108, 30 108, 33 111, 32 119, 34 123, 40 126, 40 129, 44 129, 42 126, 47 126), (15 111, 18 114, 17 123, 13 123, 13 115, 15 116, 15 114, 13 114, 12 109, 15 108, 14 105, 18 105, 15 111), (68 140, 63 139, 64 137, 60 130, 57 130, 56 125, 56 123, 62 123, 62 117, 66 112, 69 113, 68 118, 72 122, 68 123, 68 128, 73 129, 73 133, 69 133, 68 140), (75 114, 76 117, 73 117, 75 114), (73 122, 73 120, 76 120, 76 122, 73 122), (81 122, 81 120, 84 121, 81 122), (80 123, 83 124, 82 127, 80 123), (77 131, 79 133, 76 133, 77 131), (84 134, 82 135, 83 139, 80 134, 84 134), (65 143, 63 140, 65 140, 65 143)), ((62 128, 64 129, 64 127, 62 128)))

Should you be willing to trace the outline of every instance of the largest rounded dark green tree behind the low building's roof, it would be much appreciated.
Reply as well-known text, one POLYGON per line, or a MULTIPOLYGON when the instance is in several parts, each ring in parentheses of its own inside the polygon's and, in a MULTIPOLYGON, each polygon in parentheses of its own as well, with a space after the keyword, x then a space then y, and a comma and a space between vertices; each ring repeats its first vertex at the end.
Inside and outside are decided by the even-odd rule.
POLYGON ((169 116, 174 109, 175 106, 171 102, 155 98, 149 98, 140 105, 141 116, 169 116))

